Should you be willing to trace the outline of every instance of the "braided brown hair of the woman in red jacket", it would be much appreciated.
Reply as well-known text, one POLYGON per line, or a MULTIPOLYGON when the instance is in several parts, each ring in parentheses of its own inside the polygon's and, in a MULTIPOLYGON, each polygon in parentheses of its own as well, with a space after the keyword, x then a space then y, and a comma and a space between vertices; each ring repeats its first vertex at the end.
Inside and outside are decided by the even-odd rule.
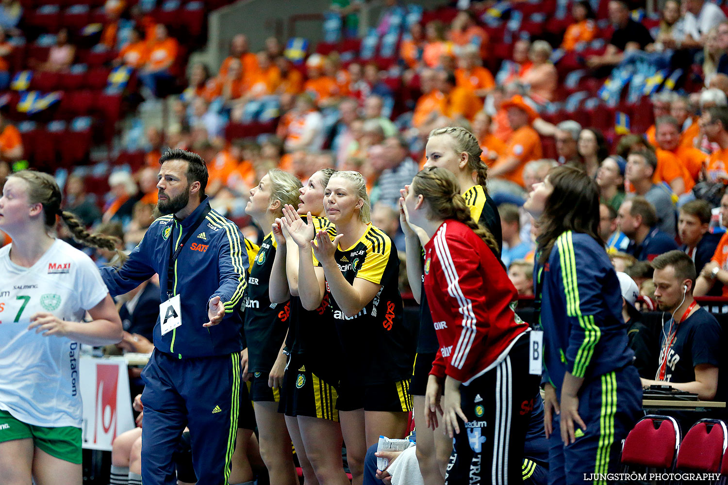
POLYGON ((493 254, 499 254, 491 231, 472 220, 470 207, 460 195, 460 186, 452 172, 440 167, 422 169, 412 180, 410 190, 427 201, 433 218, 458 220, 483 239, 493 254))

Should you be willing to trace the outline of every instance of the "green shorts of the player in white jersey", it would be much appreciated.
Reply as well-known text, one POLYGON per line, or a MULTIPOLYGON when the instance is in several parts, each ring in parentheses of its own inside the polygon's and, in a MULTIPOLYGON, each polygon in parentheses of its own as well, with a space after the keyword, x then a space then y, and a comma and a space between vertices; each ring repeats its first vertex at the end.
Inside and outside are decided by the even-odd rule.
POLYGON ((24 438, 31 438, 35 446, 59 460, 76 464, 82 462, 81 428, 28 425, 0 409, 0 443, 24 438))

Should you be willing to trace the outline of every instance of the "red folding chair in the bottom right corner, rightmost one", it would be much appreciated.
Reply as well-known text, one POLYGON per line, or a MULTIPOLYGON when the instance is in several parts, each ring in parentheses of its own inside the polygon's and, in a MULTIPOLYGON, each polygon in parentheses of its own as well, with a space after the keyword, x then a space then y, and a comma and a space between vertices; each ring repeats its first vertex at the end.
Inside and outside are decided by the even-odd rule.
POLYGON ((676 468, 718 473, 728 448, 728 429, 721 420, 700 420, 692 425, 680 444, 676 468))

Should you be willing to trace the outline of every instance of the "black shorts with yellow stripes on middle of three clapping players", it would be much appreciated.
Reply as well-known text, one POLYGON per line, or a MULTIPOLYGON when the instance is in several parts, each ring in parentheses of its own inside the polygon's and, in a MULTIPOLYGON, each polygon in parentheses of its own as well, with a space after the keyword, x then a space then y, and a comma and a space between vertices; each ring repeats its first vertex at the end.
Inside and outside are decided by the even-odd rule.
POLYGON ((278 412, 291 417, 317 417, 339 422, 339 410, 336 409, 338 398, 335 385, 306 369, 304 356, 291 354, 288 357, 283 377, 283 398, 278 405, 278 412))

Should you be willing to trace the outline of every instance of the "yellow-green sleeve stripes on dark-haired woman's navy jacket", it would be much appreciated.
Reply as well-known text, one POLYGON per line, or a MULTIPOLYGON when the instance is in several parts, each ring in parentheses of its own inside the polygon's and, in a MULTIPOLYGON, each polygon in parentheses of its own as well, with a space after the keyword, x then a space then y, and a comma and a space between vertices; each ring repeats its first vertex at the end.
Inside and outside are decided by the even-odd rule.
POLYGON ((577 357, 574 358, 574 369, 571 374, 574 377, 584 377, 587 366, 594 353, 594 347, 601 337, 601 330, 594 323, 591 315, 582 315, 579 308, 579 282, 577 281, 577 261, 574 257, 574 243, 571 238, 571 231, 558 236, 558 257, 561 262, 561 278, 566 293, 566 316, 578 318, 579 326, 584 329, 584 341, 579 345, 577 357))

